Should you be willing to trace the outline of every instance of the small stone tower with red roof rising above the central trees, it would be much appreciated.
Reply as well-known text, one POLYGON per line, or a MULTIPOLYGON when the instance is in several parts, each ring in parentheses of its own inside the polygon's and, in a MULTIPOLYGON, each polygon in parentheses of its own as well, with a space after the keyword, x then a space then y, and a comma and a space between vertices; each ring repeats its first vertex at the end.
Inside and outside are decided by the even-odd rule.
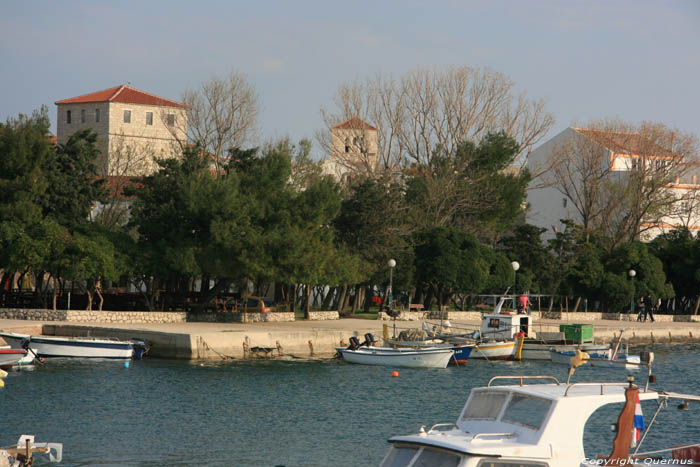
POLYGON ((374 172, 378 144, 377 129, 359 117, 335 125, 331 128, 330 154, 323 172, 337 180, 352 173, 374 172))

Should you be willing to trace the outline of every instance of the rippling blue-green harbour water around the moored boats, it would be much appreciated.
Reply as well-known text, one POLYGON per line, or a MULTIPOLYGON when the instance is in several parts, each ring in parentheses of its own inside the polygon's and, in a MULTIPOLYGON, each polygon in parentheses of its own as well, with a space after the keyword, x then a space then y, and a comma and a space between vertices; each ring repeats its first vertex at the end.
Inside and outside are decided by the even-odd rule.
MULTIPOLYGON (((635 352, 642 348, 631 349, 635 352)), ((700 392, 700 345, 649 346, 656 388, 700 392)), ((325 362, 190 363, 146 359, 49 361, 11 372, 0 389, 0 445, 20 434, 61 442, 63 462, 84 466, 376 466, 387 438, 453 422, 469 390, 494 375, 566 369, 540 362, 470 360, 446 370, 325 362)), ((640 378, 644 372, 637 372, 640 378)), ((620 369, 577 370, 576 381, 624 379, 620 369)), ((669 404, 643 450, 700 441, 700 407, 669 404), (662 430, 658 430, 663 426, 662 430)), ((699 404, 700 405, 700 404, 699 404)), ((648 422, 657 406, 643 403, 648 422)), ((586 453, 612 449, 619 408, 589 421, 586 453)))

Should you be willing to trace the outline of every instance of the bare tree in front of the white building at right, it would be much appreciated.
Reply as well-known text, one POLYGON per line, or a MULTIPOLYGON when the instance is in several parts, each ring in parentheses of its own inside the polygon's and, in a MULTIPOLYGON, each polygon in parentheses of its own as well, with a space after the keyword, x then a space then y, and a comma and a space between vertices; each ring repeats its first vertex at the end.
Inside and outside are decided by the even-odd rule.
POLYGON ((698 156, 695 136, 618 120, 569 131, 544 178, 572 203, 587 233, 604 233, 614 248, 667 223, 680 199, 673 186, 698 156))

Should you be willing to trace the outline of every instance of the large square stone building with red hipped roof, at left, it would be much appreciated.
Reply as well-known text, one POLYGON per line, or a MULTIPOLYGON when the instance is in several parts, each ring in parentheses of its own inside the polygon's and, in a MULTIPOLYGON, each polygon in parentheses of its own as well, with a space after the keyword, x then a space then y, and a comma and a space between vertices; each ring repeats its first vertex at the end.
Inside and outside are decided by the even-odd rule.
POLYGON ((57 138, 68 141, 78 130, 97 133, 102 157, 98 171, 109 177, 148 175, 155 158, 174 157, 187 140, 185 105, 130 86, 56 102, 57 138))

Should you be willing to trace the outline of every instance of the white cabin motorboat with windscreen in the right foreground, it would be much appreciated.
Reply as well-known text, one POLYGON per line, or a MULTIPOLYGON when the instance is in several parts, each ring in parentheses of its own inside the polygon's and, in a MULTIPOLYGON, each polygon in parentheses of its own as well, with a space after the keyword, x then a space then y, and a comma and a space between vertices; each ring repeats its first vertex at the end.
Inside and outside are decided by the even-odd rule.
POLYGON ((700 396, 638 387, 631 376, 627 382, 571 384, 551 376, 496 376, 486 387, 472 389, 456 422, 390 438, 391 448, 381 467, 583 467, 627 465, 631 459, 636 465, 653 465, 647 462, 658 460, 662 452, 672 453, 674 458, 690 456, 683 453, 688 445, 678 446, 677 437, 670 438, 675 447, 640 452, 656 414, 637 439, 635 431, 639 429, 641 434, 643 430, 635 423, 639 401, 658 400, 658 414, 669 399, 700 401, 700 396), (495 384, 505 379, 516 384, 495 384), (527 384, 530 382, 541 384, 527 384), (586 422, 596 410, 613 403, 624 403, 624 407, 615 425, 612 449, 603 447, 602 459, 589 459, 583 446, 586 422), (633 438, 636 450, 631 455, 633 438))

